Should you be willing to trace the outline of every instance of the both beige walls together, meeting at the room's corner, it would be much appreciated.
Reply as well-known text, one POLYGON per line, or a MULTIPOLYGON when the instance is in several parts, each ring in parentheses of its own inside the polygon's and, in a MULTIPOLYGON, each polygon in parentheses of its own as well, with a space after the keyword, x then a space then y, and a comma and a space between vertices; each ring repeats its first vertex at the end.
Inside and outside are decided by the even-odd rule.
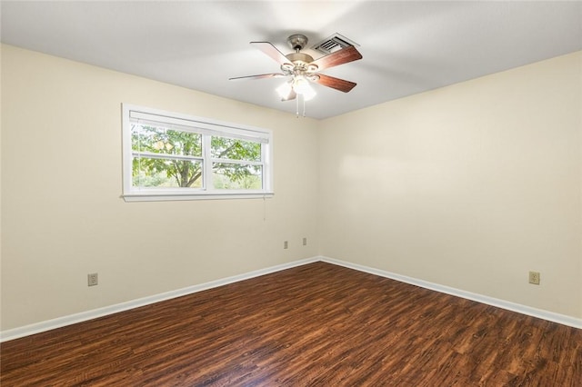
POLYGON ((582 317, 581 53, 301 125, 1 54, 3 331, 318 253, 582 317), (275 198, 125 203, 122 103, 272 129, 275 198))

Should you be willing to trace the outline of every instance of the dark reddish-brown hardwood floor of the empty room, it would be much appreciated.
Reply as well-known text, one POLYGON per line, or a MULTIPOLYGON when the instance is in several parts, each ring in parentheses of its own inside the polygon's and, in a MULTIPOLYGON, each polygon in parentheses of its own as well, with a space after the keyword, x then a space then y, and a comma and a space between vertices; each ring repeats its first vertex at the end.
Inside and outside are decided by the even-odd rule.
POLYGON ((8 386, 582 386, 582 330, 311 263, 4 342, 8 386))

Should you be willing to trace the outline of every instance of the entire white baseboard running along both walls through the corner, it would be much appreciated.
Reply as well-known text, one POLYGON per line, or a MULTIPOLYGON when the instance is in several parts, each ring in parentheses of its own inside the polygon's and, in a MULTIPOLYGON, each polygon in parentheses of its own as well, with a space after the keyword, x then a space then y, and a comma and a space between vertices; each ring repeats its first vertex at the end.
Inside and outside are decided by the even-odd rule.
POLYGON ((232 277, 223 278, 216 281, 211 281, 209 283, 201 283, 193 286, 188 286, 183 289, 178 289, 172 292, 155 294, 149 297, 139 298, 136 300, 128 301, 126 303, 117 303, 115 305, 105 306, 103 308, 94 309, 92 311, 86 311, 81 313, 70 314, 63 317, 58 317, 53 320, 47 320, 45 322, 33 323, 30 325, 25 325, 22 327, 6 330, 0 332, 0 342, 7 342, 10 340, 15 340, 21 337, 29 336, 31 334, 50 331, 56 328, 61 328, 66 325, 71 325, 74 323, 82 323, 88 320, 93 320, 97 317, 103 317, 108 314, 119 313, 128 311, 130 309, 138 308, 141 306, 146 306, 152 303, 159 303, 161 301, 170 300, 176 297, 181 297, 183 295, 188 295, 192 293, 202 292, 207 289, 216 288, 218 286, 223 286, 229 283, 237 283, 239 281, 248 280, 251 278, 258 277, 260 275, 265 275, 269 273, 276 273, 282 270, 290 269, 292 267, 301 266, 307 263, 315 263, 318 261, 336 264, 338 266, 344 266, 350 269, 354 269, 360 272, 371 273, 379 275, 381 277, 390 278, 402 283, 410 283, 422 288, 433 290, 440 293, 447 293, 457 297, 466 298, 468 300, 476 301, 477 303, 486 303, 487 305, 497 306, 498 308, 507 309, 508 311, 527 314, 529 316, 537 317, 554 323, 561 323, 563 325, 571 326, 574 328, 582 329, 582 319, 577 319, 576 317, 567 316, 564 314, 548 312, 536 308, 532 308, 526 305, 521 305, 518 303, 510 303, 508 301, 499 300, 497 298, 488 297, 486 295, 470 293, 462 291, 459 289, 451 288, 444 285, 439 285, 437 283, 429 283, 426 281, 418 280, 416 278, 407 277, 406 275, 400 275, 396 273, 386 272, 384 270, 379 270, 367 266, 363 266, 356 263, 348 263, 345 261, 339 261, 333 258, 328 258, 325 256, 316 256, 312 258, 306 258, 299 261, 294 261, 291 263, 283 263, 276 266, 267 267, 266 269, 256 270, 254 272, 243 273, 235 275, 232 277))

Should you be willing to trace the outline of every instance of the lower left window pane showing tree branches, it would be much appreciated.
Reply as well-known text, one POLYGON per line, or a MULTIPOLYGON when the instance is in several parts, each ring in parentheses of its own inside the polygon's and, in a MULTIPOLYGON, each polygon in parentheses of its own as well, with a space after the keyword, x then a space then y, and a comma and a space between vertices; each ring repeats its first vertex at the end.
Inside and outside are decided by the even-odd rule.
POLYGON ((136 157, 133 161, 135 187, 202 187, 202 163, 191 160, 167 160, 136 157))

